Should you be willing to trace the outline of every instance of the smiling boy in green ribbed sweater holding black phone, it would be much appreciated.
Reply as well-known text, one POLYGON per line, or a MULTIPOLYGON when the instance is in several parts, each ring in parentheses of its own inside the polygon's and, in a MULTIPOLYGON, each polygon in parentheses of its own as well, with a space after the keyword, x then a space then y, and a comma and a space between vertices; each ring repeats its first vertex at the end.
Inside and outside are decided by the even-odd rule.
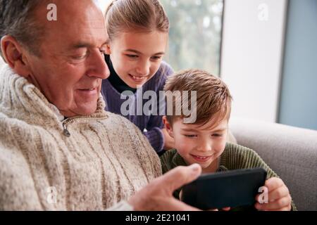
MULTIPOLYGON (((164 91, 197 91, 197 111, 196 120, 187 123, 185 119, 188 117, 180 110, 184 108, 184 101, 176 97, 171 105, 167 103, 168 108, 173 107, 173 115, 167 114, 163 117, 163 122, 168 134, 175 141, 175 149, 161 156, 163 173, 174 167, 193 163, 198 163, 203 173, 262 167, 268 172, 265 183, 268 188, 268 203, 260 204, 258 195, 255 209, 296 210, 287 186, 254 150, 226 143, 232 96, 221 79, 205 71, 185 70, 171 76, 164 91), (175 115, 175 112, 181 113, 175 115)), ((191 106, 194 105, 186 105, 186 108, 191 106)), ((178 198, 179 192, 180 190, 175 192, 178 198)), ((254 210, 254 207, 232 210, 254 210)))

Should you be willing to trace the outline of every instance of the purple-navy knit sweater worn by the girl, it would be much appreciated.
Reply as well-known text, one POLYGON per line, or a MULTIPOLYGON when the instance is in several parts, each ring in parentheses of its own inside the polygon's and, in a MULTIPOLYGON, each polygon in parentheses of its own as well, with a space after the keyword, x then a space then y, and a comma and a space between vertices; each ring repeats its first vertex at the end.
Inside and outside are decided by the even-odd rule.
POLYGON ((166 106, 164 99, 159 98, 159 91, 163 91, 163 86, 165 85, 166 78, 173 73, 173 69, 170 68, 170 65, 168 65, 167 63, 162 62, 159 70, 156 72, 154 77, 152 77, 147 83, 145 83, 142 88, 133 90, 127 86, 126 90, 130 91, 131 95, 123 96, 121 93, 124 89, 124 84, 122 83, 122 80, 116 81, 116 79, 120 78, 118 77, 118 75, 115 74, 116 71, 113 70, 112 63, 109 59, 107 60, 107 58, 108 57, 106 57, 106 63, 109 67, 109 70, 111 71, 110 77, 113 76, 115 79, 111 79, 110 81, 109 77, 109 79, 104 79, 102 82, 101 94, 104 96, 104 100, 106 101, 105 110, 119 115, 123 115, 123 113, 121 113, 121 106, 123 106, 124 109, 131 110, 131 113, 123 116, 134 123, 137 127, 139 127, 143 134, 147 136, 149 143, 151 143, 151 146, 156 150, 157 153, 162 153, 164 138, 161 131, 161 129, 163 128, 163 122, 162 115, 160 115, 162 114, 160 113, 160 110, 161 112, 162 110, 163 112, 165 112, 166 106), (120 84, 120 86, 118 84, 120 84), (146 99, 146 96, 144 96, 145 91, 154 91, 156 93, 157 110, 152 111, 150 107, 150 110, 141 110, 140 113, 140 110, 139 112, 137 112, 137 108, 139 108, 137 107, 137 105, 142 104, 143 109, 143 106, 145 106, 145 104, 151 100, 151 97, 149 97, 149 99, 146 99), (128 101, 130 101, 130 105, 134 106, 133 109, 132 107, 130 108, 126 106, 128 104, 128 101))

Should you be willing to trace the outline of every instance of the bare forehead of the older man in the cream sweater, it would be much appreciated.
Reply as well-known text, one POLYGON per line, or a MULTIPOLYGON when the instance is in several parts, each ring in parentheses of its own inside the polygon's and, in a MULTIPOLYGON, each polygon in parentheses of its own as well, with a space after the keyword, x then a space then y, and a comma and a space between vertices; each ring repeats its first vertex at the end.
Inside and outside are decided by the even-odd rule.
MULTIPOLYGON (((46 21, 46 42, 63 49, 76 46, 102 46, 106 42, 106 27, 101 10, 90 0, 55 1, 57 20, 46 21)), ((43 13, 41 12, 41 16, 43 13)))

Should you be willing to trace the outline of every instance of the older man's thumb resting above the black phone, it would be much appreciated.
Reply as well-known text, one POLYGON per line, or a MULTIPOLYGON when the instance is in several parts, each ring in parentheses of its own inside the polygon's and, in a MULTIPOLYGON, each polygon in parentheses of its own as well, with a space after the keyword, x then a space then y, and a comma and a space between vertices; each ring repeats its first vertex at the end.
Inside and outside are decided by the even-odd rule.
POLYGON ((163 176, 162 184, 173 193, 176 189, 188 184, 201 174, 201 167, 198 164, 193 164, 188 167, 176 167, 175 169, 170 170, 163 176))

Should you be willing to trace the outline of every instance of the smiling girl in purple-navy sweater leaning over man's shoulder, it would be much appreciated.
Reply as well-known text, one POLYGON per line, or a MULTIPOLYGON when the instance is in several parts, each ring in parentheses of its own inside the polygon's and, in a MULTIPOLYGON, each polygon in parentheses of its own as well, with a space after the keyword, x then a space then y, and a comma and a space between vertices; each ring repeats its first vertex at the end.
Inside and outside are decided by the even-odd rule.
POLYGON ((162 60, 168 44, 168 17, 157 0, 117 0, 108 6, 105 18, 108 32, 105 60, 110 77, 104 79, 101 94, 106 110, 128 118, 161 154, 163 149, 173 148, 173 139, 163 128, 159 113, 164 101, 160 100, 159 91, 163 91, 166 77, 173 73, 162 60), (149 101, 142 99, 145 91, 156 93, 156 101, 150 99, 157 103, 154 112, 143 110, 144 103, 149 101), (136 113, 137 107, 132 111, 129 108, 132 113, 123 113, 125 97, 132 99, 133 106, 138 105, 137 101, 142 102, 141 115, 136 113))

